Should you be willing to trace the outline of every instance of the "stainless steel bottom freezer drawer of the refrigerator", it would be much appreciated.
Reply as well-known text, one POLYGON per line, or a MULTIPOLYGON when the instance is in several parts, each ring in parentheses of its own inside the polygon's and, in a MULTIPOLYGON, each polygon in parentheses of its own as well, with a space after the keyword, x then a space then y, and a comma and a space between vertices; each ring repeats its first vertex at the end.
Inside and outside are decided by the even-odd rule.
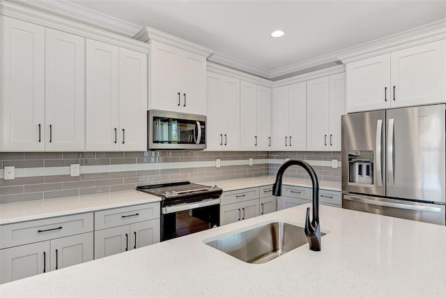
POLYGON ((424 223, 446 224, 446 206, 440 204, 344 194, 342 195, 342 208, 423 221, 424 223))

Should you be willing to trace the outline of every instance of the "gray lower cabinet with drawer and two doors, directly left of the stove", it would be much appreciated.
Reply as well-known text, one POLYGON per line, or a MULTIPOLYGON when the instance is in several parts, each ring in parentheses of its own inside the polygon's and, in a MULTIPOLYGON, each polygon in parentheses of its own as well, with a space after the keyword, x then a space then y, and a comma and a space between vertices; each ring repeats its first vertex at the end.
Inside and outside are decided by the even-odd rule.
POLYGON ((160 203, 95 212, 95 259, 160 242, 160 203))

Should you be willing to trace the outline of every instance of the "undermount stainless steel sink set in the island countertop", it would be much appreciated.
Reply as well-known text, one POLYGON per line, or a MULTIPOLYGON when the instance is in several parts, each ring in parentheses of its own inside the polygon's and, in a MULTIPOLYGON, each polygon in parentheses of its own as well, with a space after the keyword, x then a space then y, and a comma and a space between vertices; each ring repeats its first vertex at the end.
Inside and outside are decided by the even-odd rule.
POLYGON ((205 243, 243 262, 262 264, 307 244, 307 236, 304 228, 277 221, 205 243))

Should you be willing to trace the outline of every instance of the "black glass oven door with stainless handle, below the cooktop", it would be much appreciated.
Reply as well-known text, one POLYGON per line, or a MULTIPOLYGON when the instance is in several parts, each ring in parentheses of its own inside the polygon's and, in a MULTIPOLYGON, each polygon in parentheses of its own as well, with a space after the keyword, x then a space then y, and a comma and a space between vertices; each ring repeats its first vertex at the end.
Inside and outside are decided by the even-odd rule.
POLYGON ((179 204, 161 209, 161 241, 220 225, 220 199, 179 204))

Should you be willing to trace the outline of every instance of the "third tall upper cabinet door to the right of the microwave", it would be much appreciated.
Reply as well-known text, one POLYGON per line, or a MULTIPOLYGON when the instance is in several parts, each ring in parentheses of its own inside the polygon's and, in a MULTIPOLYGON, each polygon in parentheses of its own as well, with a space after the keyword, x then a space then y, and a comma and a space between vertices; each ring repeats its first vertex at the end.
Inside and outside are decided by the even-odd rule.
POLYGON ((240 150, 256 151, 257 135, 257 85, 240 81, 240 150))

